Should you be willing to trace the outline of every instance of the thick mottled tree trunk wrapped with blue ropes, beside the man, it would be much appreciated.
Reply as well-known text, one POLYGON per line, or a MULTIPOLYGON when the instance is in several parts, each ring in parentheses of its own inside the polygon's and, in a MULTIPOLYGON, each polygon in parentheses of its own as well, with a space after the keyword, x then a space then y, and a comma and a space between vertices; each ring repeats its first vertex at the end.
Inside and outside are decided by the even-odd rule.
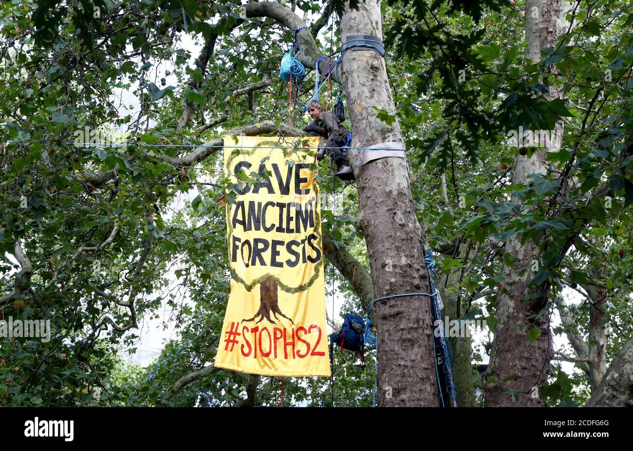
MULTIPOLYGON (((358 2, 341 18, 342 41, 351 35, 382 39, 380 2, 358 2)), ((354 146, 404 143, 398 121, 389 126, 373 106, 394 113, 385 61, 371 49, 347 51, 339 72, 354 132, 354 146)), ((372 265, 375 296, 428 293, 422 230, 411 198, 404 158, 382 158, 358 168, 358 212, 372 265)), ((430 299, 392 298, 375 304, 378 345, 379 406, 437 406, 430 299)))

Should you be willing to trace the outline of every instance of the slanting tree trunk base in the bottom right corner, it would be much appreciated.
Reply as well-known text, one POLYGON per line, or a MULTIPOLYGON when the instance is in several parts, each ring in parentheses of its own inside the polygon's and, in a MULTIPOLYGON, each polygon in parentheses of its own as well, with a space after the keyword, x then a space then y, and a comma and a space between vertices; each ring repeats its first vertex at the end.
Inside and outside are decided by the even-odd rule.
POLYGON ((586 407, 633 407, 633 338, 613 359, 586 407))

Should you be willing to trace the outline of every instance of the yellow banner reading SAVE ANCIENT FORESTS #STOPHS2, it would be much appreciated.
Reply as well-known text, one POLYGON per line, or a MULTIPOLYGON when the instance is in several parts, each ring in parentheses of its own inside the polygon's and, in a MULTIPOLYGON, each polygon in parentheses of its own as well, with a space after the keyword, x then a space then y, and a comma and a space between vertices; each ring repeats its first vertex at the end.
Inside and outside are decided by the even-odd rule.
POLYGON ((330 376, 315 138, 225 136, 231 292, 215 366, 330 376), (235 195, 235 199, 232 199, 235 195))

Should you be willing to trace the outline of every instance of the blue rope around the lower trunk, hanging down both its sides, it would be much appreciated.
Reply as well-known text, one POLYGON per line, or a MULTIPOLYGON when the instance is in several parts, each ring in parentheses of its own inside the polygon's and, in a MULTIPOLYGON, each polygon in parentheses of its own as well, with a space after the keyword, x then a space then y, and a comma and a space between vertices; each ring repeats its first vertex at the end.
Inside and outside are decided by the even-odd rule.
MULTIPOLYGON (((372 302, 370 302, 367 307, 367 317, 365 318, 365 332, 363 334, 363 338, 365 340, 365 346, 367 346, 367 348, 369 348, 370 346, 374 346, 376 350, 376 378, 373 386, 373 407, 375 407, 376 405, 376 391, 378 387, 378 336, 371 331, 371 327, 373 327, 373 322, 370 319, 370 312, 372 311, 373 305, 379 301, 389 300, 392 298, 401 298, 404 296, 429 296, 431 300, 431 315, 433 320, 432 324, 437 324, 436 321, 440 321, 439 324, 443 324, 439 310, 439 302, 437 300, 435 279, 433 276, 435 263, 433 261, 432 251, 425 251, 424 263, 427 267, 427 270, 429 270, 430 293, 404 293, 401 295, 384 296, 382 298, 372 300, 372 302)), ((437 330, 439 331, 439 334, 437 334, 438 336, 436 336, 436 333, 433 334, 433 352, 440 405, 441 407, 457 407, 457 394, 453 383, 453 372, 451 371, 451 348, 448 341, 446 341, 446 339, 444 338, 444 329, 442 329, 442 327, 437 327, 437 330), (448 400, 444 399, 445 394, 448 400)))

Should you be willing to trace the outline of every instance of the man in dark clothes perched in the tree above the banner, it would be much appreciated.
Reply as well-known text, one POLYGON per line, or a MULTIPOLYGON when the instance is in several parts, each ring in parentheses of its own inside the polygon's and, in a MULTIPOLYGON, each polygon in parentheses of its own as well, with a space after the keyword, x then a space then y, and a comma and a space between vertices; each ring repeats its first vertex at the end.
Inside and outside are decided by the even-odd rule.
POLYGON ((351 140, 351 133, 341 125, 341 122, 332 114, 331 111, 323 111, 320 103, 316 100, 308 105, 308 114, 313 121, 303 127, 304 132, 314 132, 319 136, 327 138, 325 147, 319 148, 316 159, 323 160, 323 156, 327 153, 336 163, 336 176, 342 179, 353 179, 353 170, 349 167, 341 146, 349 145, 348 139, 351 140))

